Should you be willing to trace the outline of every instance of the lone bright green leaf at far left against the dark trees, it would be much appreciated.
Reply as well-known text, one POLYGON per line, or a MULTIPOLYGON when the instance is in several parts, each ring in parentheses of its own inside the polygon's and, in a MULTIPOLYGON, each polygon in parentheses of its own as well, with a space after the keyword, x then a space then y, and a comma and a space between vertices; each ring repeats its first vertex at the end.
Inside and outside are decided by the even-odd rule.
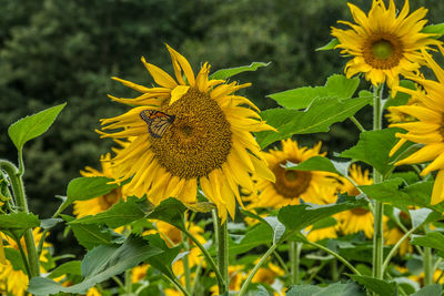
POLYGON ((8 134, 17 150, 21 151, 24 143, 48 131, 65 104, 52 106, 31 116, 26 116, 9 126, 8 134))

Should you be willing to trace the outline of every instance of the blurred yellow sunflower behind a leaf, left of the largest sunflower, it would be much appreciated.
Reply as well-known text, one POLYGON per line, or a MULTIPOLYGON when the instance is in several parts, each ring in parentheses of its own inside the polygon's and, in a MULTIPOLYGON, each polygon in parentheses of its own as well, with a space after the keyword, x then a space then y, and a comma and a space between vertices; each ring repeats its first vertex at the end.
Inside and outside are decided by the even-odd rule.
MULTIPOLYGON (((105 176, 110 178, 115 178, 114 172, 111 167, 111 154, 107 153, 100 157, 100 163, 102 165, 102 171, 97 171, 90 166, 87 166, 84 171, 80 171, 82 176, 105 176)), ((98 196, 87 201, 75 201, 74 202, 74 215, 77 217, 84 217, 88 215, 95 215, 109 210, 111 206, 117 204, 120 200, 124 198, 122 194, 122 187, 118 187, 110 193, 98 196)))

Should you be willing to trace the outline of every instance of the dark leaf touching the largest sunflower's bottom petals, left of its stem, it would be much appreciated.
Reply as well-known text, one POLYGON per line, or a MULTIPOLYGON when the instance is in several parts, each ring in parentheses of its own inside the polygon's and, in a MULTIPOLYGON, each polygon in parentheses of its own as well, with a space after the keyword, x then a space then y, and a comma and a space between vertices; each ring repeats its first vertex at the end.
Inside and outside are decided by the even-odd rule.
POLYGON ((183 213, 186 211, 179 200, 170 197, 162 201, 154 210, 148 215, 148 218, 155 218, 167 222, 179 229, 184 229, 183 213))

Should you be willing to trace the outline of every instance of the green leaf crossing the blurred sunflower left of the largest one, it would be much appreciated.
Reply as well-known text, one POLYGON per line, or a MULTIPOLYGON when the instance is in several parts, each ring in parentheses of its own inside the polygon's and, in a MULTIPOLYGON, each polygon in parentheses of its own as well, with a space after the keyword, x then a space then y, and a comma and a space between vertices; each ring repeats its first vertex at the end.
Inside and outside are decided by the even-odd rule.
POLYGON ((68 184, 67 196, 73 201, 87 201, 102 196, 120 187, 119 184, 108 184, 114 180, 105 176, 77 177, 68 184))

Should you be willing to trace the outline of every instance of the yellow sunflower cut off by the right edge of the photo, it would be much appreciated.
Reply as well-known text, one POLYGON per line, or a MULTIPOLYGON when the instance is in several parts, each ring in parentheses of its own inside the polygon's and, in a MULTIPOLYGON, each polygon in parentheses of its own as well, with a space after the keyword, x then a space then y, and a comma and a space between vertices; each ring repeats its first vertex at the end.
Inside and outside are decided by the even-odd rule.
MULTIPOLYGON (((443 52, 441 47, 440 50, 443 52)), ((423 51, 423 54, 427 67, 433 70, 438 81, 408 76, 408 79, 422 85, 424 90, 398 88, 398 91, 411 94, 420 103, 393 108, 417 120, 390 125, 391 127, 402 127, 407 131, 405 134, 396 133, 396 136, 401 137, 401 140, 390 154, 393 155, 407 141, 423 144, 418 151, 396 162, 395 165, 431 161, 421 172, 421 175, 425 176, 433 171, 438 171, 431 198, 431 204, 437 204, 444 201, 444 71, 428 53, 423 51)))

